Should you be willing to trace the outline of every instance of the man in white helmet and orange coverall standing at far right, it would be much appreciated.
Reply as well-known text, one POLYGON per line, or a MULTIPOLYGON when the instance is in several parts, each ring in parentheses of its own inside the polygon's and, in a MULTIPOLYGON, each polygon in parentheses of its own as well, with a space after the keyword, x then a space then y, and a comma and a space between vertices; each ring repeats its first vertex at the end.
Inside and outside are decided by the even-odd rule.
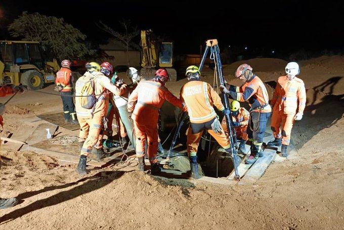
POLYGON ((294 121, 302 119, 306 106, 306 89, 304 82, 296 78, 300 73, 296 62, 289 62, 285 66, 287 75, 280 76, 274 96, 270 102, 273 107, 271 130, 275 140, 270 146, 281 146, 282 157, 287 157, 287 147, 290 143, 291 128, 294 121), (282 130, 280 129, 282 123, 282 130))

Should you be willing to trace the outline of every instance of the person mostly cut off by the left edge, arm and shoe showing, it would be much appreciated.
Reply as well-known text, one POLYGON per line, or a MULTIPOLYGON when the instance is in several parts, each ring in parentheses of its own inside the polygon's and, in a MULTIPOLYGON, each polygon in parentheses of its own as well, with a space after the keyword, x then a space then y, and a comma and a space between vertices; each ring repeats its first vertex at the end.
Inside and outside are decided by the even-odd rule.
MULTIPOLYGON (((7 95, 11 95, 16 93, 17 91, 20 91, 22 93, 27 91, 27 86, 1 86, 0 87, 0 97, 6 97, 7 95)), ((5 113, 5 105, 0 103, 0 126, 4 126, 4 119, 3 115, 5 113)), ((0 145, 1 145, 1 138, 0 138, 0 145)), ((1 161, 1 155, 0 155, 0 169, 2 166, 2 161, 1 161)), ((18 199, 13 197, 13 198, 0 198, 0 208, 10 208, 18 204, 18 199)))

